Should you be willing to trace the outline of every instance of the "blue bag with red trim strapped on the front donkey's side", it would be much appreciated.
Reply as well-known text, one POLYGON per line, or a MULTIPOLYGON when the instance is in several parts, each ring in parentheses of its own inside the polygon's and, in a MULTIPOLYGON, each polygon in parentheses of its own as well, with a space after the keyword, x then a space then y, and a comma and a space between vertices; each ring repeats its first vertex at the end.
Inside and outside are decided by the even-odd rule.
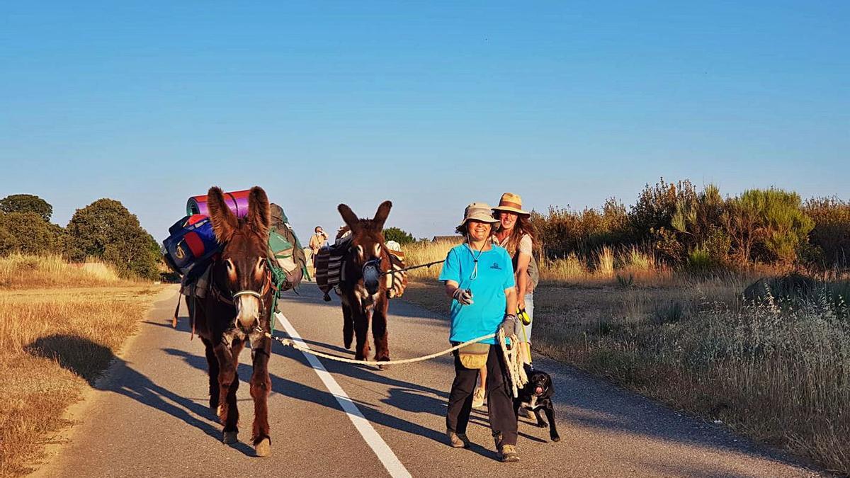
POLYGON ((162 255, 168 266, 181 276, 221 249, 212 231, 212 222, 203 214, 178 220, 168 228, 168 234, 167 239, 162 241, 162 255))

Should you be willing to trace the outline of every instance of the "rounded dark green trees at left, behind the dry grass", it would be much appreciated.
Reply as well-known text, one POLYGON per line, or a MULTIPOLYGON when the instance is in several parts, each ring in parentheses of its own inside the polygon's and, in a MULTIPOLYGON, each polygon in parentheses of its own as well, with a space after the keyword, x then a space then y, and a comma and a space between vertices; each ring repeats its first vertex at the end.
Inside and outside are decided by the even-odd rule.
POLYGON ((77 209, 65 228, 50 222, 53 206, 38 196, 16 194, 0 200, 0 256, 60 254, 115 266, 122 276, 159 275, 159 245, 121 202, 99 199, 77 209))

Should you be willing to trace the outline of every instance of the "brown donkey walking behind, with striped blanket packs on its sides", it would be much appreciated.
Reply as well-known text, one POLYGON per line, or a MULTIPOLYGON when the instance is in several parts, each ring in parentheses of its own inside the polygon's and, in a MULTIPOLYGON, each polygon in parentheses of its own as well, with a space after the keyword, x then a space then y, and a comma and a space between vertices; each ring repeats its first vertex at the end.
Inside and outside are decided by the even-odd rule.
POLYGON ((383 223, 392 207, 392 202, 382 202, 373 219, 358 219, 345 204, 337 208, 352 234, 351 246, 343 259, 343 277, 339 288, 343 303, 343 343, 346 349, 350 349, 354 335, 357 336, 354 350, 356 360, 365 360, 369 356, 371 320, 375 360, 389 361, 388 287, 381 274, 392 267, 387 248, 383 245, 382 232, 383 223))

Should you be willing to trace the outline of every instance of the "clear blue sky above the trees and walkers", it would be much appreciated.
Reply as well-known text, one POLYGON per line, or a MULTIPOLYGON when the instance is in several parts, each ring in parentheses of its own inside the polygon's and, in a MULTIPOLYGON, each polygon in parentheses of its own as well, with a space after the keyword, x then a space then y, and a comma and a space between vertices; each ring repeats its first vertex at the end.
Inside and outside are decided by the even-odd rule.
POLYGON ((415 236, 468 202, 647 182, 850 198, 850 3, 56 2, 0 7, 0 196, 157 239, 210 185, 299 235, 346 202, 415 236))

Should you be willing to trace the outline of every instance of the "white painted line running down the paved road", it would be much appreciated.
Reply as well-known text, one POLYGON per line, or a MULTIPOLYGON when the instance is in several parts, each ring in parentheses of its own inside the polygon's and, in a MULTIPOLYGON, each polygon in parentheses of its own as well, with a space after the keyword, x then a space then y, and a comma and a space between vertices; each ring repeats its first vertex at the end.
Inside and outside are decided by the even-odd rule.
MULTIPOLYGON (((295 330, 295 327, 292 327, 292 323, 289 322, 289 319, 287 319, 286 316, 277 312, 275 317, 277 317, 277 322, 286 330, 286 333, 292 337, 292 340, 299 342, 302 347, 309 349, 309 345, 301 339, 301 336, 298 335, 297 330, 295 330)), ((331 373, 329 373, 325 366, 322 365, 319 358, 308 353, 302 353, 307 358, 310 365, 314 368, 316 375, 321 378, 321 381, 325 384, 327 390, 330 391, 331 395, 337 399, 339 406, 343 407, 343 412, 348 415, 351 423, 354 424, 354 428, 360 432, 360 435, 363 435, 363 440, 365 440, 366 444, 371 447, 373 452, 375 452, 377 459, 381 460, 383 467, 387 469, 389 475, 394 477, 398 476, 399 478, 411 476, 411 472, 407 471, 405 465, 401 464, 399 458, 395 456, 393 450, 387 445, 387 442, 383 441, 381 435, 378 435, 377 431, 372 428, 369 421, 366 420, 363 413, 360 412, 360 409, 354 405, 354 401, 351 401, 351 399, 348 398, 343 387, 337 384, 337 380, 331 376, 331 373)))

